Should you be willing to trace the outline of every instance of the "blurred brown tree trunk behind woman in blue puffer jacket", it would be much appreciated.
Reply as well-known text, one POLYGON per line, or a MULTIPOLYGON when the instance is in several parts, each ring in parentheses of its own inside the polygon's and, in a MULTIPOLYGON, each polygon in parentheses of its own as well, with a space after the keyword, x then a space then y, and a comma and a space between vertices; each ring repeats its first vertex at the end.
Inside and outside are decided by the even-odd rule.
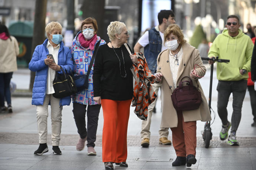
MULTIPOLYGON (((35 4, 35 19, 34 19, 34 29, 32 38, 32 52, 37 45, 42 44, 45 40, 45 17, 46 17, 46 6, 47 0, 36 0, 35 4)), ((34 71, 30 72, 30 85, 29 90, 32 91, 33 84, 35 80, 36 73, 34 71)))

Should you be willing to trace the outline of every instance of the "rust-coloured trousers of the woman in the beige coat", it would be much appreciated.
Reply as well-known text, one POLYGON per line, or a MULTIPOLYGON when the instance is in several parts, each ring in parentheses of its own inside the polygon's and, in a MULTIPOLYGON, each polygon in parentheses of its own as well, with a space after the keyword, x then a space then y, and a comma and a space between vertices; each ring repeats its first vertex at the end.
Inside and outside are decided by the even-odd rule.
POLYGON ((173 147, 177 156, 196 156, 196 121, 184 122, 182 111, 177 111, 178 127, 172 127, 173 147))

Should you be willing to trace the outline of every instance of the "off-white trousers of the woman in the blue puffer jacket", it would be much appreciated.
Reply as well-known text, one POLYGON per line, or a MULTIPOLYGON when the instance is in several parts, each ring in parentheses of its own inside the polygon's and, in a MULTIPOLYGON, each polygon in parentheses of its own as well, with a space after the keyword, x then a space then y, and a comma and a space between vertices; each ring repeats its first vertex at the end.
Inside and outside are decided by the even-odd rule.
POLYGON ((61 111, 60 99, 46 94, 43 105, 36 107, 37 128, 39 134, 39 143, 47 143, 47 118, 48 118, 48 104, 51 107, 51 120, 52 120, 52 146, 59 146, 60 132, 61 132, 61 111))

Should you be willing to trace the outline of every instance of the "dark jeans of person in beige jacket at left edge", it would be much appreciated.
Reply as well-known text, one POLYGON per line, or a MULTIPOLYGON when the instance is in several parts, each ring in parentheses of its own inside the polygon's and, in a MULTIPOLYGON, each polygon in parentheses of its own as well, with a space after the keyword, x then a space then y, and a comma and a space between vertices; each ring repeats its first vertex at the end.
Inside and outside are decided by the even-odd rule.
POLYGON ((13 72, 0 73, 0 106, 4 107, 4 98, 7 104, 11 104, 11 91, 10 82, 12 79, 13 72))

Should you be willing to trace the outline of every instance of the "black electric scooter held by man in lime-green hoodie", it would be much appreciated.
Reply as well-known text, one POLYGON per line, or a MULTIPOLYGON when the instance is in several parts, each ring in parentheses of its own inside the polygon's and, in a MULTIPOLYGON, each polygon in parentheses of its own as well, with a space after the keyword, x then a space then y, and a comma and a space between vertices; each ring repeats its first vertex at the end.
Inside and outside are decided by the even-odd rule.
MULTIPOLYGON (((230 60, 225 60, 225 59, 219 59, 219 57, 217 56, 216 58, 208 58, 208 57, 201 57, 202 60, 211 60, 214 62, 219 62, 219 63, 229 63, 230 60)), ((210 76, 210 90, 209 90, 209 110, 210 110, 210 114, 211 114, 211 89, 212 89, 212 84, 213 84, 213 64, 211 64, 211 76, 210 76)), ((203 140, 204 140, 204 144, 205 144, 205 148, 209 148, 210 145, 210 140, 212 139, 213 134, 211 133, 211 121, 207 121, 204 124, 204 131, 202 131, 202 135, 203 135, 203 140)))

